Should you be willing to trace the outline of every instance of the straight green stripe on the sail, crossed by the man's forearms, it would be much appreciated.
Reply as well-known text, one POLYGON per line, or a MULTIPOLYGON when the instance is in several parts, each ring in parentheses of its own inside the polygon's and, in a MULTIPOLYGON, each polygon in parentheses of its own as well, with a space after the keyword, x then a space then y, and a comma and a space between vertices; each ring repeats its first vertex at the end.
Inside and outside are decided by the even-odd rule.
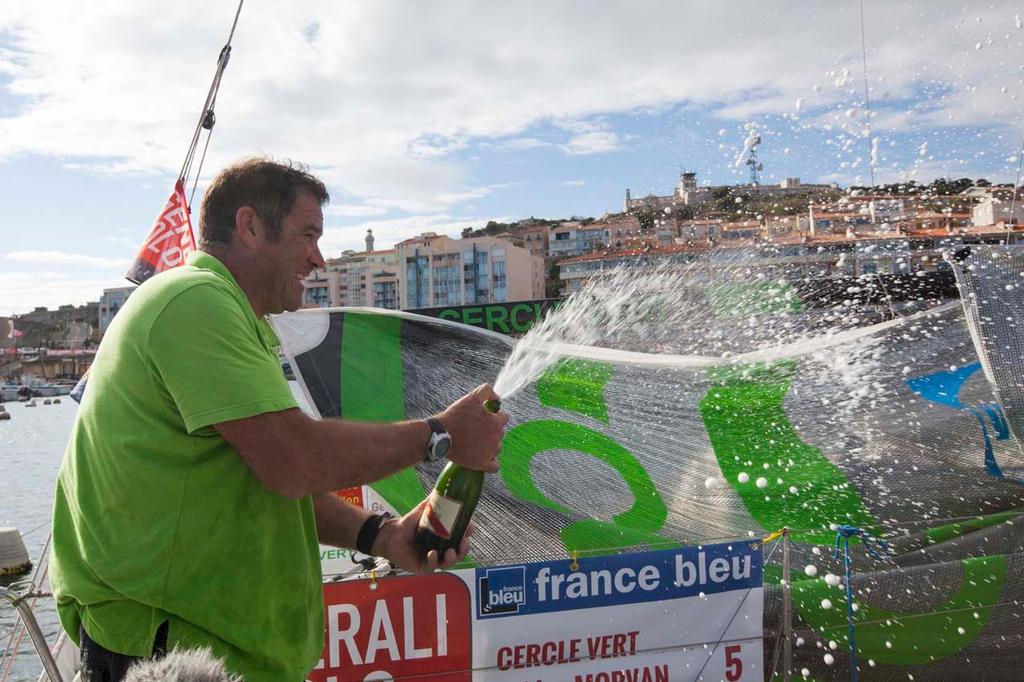
MULTIPOLYGON (((346 312, 341 340, 342 417, 362 422, 406 419, 401 367, 401 318, 346 312)), ((377 481, 373 488, 399 514, 420 504, 426 493, 409 468, 377 481)))

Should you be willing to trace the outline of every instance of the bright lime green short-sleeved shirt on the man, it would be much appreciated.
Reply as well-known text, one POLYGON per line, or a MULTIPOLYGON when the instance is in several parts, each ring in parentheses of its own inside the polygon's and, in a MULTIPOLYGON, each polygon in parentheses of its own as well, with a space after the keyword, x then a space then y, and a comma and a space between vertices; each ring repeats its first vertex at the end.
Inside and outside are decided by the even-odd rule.
POLYGON ((278 339, 198 253, 136 290, 89 372, 57 480, 51 584, 76 642, 210 646, 248 682, 302 680, 324 646, 310 498, 266 488, 212 427, 296 408, 278 339))

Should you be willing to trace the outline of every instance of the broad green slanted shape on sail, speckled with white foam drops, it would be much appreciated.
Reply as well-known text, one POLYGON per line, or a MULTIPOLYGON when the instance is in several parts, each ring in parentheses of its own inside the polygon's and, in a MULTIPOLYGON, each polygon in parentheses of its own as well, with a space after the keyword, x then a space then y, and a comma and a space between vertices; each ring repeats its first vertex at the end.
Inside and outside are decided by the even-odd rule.
POLYGON ((830 542, 830 523, 873 528, 877 522, 853 484, 790 423, 782 399, 794 372, 791 361, 709 371, 719 383, 699 410, 722 475, 763 528, 787 526, 797 542, 830 542), (742 473, 749 476, 744 483, 742 473), (760 477, 765 487, 757 486, 760 477))

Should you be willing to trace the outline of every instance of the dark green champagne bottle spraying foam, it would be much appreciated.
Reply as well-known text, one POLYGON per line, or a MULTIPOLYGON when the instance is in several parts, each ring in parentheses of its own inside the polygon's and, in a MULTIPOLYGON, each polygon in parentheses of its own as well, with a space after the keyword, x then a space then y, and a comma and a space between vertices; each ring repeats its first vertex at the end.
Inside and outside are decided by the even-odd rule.
MULTIPOLYGON (((497 413, 502 401, 485 400, 483 407, 497 413)), ((427 506, 416 529, 416 548, 422 556, 430 550, 437 550, 440 559, 450 547, 459 551, 482 492, 482 471, 466 469, 455 462, 447 463, 427 498, 427 506)))

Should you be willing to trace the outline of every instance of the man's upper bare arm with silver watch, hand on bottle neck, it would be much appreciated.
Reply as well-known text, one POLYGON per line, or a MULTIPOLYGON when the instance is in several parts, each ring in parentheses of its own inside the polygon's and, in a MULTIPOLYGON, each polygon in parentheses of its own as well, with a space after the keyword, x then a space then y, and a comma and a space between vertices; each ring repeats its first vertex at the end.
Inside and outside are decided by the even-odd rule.
MULTIPOLYGON (((483 407, 484 400, 497 397, 484 384, 437 415, 452 434, 449 459, 453 462, 469 469, 498 471, 508 416, 483 407)), ((264 485, 289 498, 380 480, 422 462, 430 437, 430 427, 422 421, 317 421, 299 410, 265 413, 214 427, 264 485)))

